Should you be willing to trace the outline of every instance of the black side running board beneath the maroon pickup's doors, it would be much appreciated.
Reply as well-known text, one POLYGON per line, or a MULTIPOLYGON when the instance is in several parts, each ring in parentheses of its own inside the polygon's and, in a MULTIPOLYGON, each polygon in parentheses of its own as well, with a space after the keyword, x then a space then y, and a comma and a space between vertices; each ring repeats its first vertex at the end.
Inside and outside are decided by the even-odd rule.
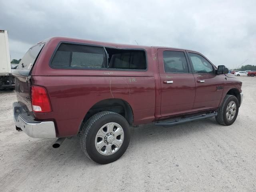
POLYGON ((212 113, 207 113, 207 114, 202 114, 202 115, 197 115, 197 116, 190 116, 190 117, 186 117, 186 118, 158 121, 158 122, 155 122, 154 124, 161 125, 161 126, 173 126, 173 125, 192 122, 192 121, 196 121, 196 120, 200 120, 200 119, 212 118, 217 115, 218 115, 218 112, 212 112, 212 113))

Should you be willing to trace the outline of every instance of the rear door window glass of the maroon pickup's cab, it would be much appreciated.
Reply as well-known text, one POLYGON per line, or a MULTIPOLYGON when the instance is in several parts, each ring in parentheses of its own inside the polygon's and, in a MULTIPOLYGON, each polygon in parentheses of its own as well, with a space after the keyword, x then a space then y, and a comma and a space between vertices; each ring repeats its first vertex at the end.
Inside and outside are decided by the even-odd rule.
POLYGON ((164 51, 164 72, 188 73, 188 62, 182 51, 164 51))

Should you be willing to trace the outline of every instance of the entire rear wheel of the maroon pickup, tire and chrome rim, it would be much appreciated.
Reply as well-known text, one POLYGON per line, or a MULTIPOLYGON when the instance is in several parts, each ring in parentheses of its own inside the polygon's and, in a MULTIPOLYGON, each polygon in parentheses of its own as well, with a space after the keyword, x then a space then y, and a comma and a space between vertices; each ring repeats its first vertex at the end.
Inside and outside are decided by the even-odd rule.
POLYGON ((81 132, 81 147, 86 156, 99 164, 118 160, 130 142, 127 120, 120 114, 103 111, 92 116, 81 132))

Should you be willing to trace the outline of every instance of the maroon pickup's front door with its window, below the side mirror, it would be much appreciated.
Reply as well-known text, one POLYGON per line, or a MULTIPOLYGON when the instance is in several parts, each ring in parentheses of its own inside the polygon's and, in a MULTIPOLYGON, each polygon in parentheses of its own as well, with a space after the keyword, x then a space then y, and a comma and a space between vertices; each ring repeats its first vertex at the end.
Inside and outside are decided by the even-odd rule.
POLYGON ((201 54, 187 52, 196 83, 193 110, 218 108, 222 98, 224 74, 215 74, 215 67, 201 54))

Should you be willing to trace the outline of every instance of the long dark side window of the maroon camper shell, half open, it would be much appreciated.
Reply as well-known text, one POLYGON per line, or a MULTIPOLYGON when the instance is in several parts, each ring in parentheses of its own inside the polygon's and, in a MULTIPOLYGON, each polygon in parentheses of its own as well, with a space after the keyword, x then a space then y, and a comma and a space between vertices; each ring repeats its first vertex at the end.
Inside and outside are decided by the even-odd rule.
POLYGON ((146 52, 62 42, 50 66, 64 69, 146 70, 146 52))

